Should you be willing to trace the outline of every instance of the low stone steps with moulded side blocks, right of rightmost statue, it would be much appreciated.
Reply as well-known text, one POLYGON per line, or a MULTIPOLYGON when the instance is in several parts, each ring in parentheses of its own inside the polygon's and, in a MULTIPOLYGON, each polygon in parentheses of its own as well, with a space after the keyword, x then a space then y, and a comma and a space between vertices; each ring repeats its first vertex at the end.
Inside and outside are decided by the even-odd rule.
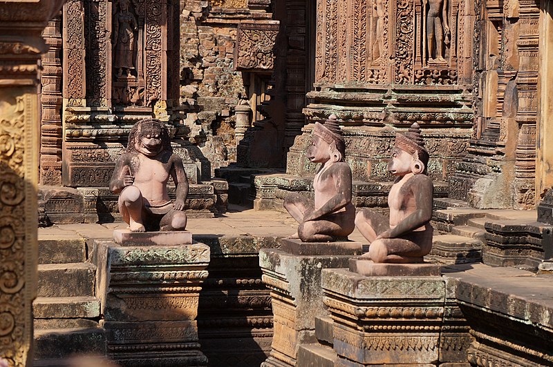
POLYGON ((543 259, 545 224, 534 210, 475 209, 465 201, 434 199, 433 248, 427 256, 438 264, 483 262, 536 270, 543 259))

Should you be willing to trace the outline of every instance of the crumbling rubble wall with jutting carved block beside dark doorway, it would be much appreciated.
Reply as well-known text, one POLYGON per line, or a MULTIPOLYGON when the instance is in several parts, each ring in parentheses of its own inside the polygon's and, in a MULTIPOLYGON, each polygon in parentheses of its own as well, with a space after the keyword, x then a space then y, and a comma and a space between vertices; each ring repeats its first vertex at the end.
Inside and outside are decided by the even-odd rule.
MULTIPOLYGON (((236 161, 235 107, 256 108, 250 84, 272 71, 278 22, 270 1, 181 1, 180 102, 187 112, 188 139, 216 168, 236 161), (255 10, 255 11, 254 11, 255 10), (247 30, 244 25, 250 25, 247 30), (241 44, 238 33, 243 32, 241 44), (249 43, 254 40, 256 44, 249 43), (260 57, 247 48, 259 47, 260 57), (243 102, 244 103, 244 102, 243 102)), ((261 90, 261 92, 264 92, 261 90)))

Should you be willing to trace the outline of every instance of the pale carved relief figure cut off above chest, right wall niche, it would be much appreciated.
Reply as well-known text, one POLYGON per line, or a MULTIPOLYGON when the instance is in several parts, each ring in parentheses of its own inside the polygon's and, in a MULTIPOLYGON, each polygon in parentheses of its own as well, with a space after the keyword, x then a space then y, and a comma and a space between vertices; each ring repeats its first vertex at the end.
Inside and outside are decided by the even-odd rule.
MULTIPOLYGON (((424 28, 427 48, 424 48, 424 52, 428 49, 429 63, 446 63, 444 46, 451 42, 451 32, 447 23, 447 0, 424 0, 424 11, 427 9, 427 1, 429 3, 426 16, 427 27, 424 28)), ((426 55, 424 59, 427 59, 426 55)))

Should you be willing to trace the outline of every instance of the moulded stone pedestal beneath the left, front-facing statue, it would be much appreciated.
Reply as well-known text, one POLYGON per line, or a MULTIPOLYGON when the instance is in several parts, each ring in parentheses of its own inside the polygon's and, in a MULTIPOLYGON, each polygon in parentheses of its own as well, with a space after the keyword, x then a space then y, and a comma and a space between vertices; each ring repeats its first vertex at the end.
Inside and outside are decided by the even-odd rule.
POLYGON ((121 366, 207 365, 196 315, 209 247, 95 244, 108 356, 121 366))

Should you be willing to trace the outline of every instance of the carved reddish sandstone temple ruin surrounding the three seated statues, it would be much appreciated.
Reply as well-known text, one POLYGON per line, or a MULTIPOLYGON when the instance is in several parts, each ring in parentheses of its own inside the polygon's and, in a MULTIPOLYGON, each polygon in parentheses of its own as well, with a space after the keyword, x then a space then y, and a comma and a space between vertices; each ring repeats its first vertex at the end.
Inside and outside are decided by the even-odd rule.
POLYGON ((0 1, 0 366, 552 365, 552 57, 548 0, 0 1), (331 116, 357 212, 420 128, 426 268, 288 239, 331 116), (191 244, 113 238, 152 118, 191 244))

